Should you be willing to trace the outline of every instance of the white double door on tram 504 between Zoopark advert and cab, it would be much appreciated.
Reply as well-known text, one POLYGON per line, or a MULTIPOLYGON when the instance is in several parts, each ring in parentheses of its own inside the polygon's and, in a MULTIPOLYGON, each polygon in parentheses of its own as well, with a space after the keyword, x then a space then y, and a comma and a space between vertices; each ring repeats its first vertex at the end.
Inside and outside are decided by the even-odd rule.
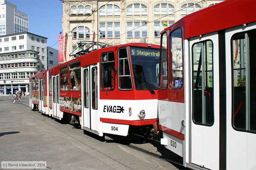
POLYGON ((99 131, 98 113, 98 65, 83 69, 83 122, 84 127, 99 131))

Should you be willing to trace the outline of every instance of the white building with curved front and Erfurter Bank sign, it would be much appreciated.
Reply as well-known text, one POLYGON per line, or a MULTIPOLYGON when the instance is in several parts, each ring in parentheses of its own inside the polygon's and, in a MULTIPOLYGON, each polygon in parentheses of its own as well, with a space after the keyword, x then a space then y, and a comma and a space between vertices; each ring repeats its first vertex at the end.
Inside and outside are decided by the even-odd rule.
MULTIPOLYGON (((0 91, 3 95, 29 92, 29 77, 46 70, 47 38, 32 33, 0 36, 0 91)), ((56 57, 57 58, 57 57, 56 57)), ((52 61, 54 59, 51 59, 52 61)), ((55 61, 56 62, 56 61, 55 61)))

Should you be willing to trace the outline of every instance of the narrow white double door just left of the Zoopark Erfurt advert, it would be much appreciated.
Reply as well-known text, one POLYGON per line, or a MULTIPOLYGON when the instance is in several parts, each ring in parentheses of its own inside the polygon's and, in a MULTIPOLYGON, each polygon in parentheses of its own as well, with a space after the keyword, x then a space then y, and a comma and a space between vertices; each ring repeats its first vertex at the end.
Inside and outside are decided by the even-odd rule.
POLYGON ((53 76, 53 116, 59 118, 59 75, 53 76))

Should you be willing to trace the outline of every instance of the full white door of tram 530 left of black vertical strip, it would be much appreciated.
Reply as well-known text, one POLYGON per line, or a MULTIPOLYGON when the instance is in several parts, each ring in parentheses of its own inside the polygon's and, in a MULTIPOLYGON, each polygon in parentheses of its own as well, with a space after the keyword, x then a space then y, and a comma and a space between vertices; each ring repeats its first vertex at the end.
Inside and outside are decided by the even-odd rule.
POLYGON ((191 59, 191 163, 219 168, 218 34, 189 42, 191 59))

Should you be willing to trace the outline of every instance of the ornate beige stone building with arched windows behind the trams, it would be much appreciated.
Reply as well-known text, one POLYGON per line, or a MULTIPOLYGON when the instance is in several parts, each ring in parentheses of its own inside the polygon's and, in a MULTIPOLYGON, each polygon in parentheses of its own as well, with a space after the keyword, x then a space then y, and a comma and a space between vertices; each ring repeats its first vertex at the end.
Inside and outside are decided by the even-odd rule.
POLYGON ((73 59, 70 54, 78 52, 77 42, 92 41, 94 32, 95 41, 109 45, 141 42, 141 37, 147 43, 160 44, 164 22, 170 26, 187 14, 219 2, 222 1, 63 0, 62 27, 68 34, 67 61, 73 59))

